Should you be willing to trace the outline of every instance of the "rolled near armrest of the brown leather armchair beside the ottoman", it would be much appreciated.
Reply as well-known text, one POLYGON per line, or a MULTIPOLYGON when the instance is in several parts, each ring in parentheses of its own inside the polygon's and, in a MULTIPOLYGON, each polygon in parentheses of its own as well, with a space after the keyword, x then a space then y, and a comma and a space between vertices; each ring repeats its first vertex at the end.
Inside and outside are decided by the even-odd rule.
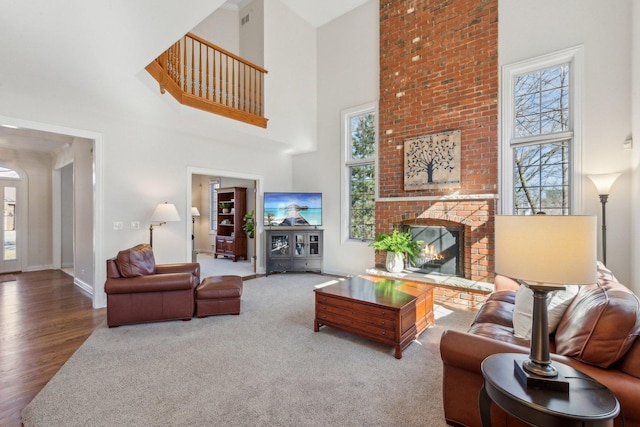
POLYGON ((193 289, 191 273, 151 274, 120 279, 107 279, 107 294, 133 294, 143 292, 167 292, 193 289))

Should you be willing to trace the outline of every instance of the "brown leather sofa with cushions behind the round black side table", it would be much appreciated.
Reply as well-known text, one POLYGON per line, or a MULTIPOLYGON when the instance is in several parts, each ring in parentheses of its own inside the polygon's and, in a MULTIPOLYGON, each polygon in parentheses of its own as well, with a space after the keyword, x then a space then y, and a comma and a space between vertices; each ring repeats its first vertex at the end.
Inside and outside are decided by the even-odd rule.
MULTIPOLYGON (((480 308, 468 332, 442 335, 443 403, 447 423, 481 425, 478 393, 480 364, 496 353, 528 353, 529 341, 514 335, 513 313, 518 284, 496 278, 496 290, 480 308)), ((565 363, 608 387, 621 411, 616 426, 640 426, 640 302, 598 265, 598 282, 582 286, 549 337, 551 359, 565 363)), ((524 426, 495 404, 493 426, 524 426)))

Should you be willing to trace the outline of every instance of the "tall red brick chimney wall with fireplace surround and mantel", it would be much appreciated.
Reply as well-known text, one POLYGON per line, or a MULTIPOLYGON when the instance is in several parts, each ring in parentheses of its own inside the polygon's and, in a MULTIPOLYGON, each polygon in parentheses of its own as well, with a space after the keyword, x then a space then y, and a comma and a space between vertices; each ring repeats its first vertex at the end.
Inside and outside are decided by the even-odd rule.
POLYGON ((376 232, 464 224, 471 280, 493 280, 498 72, 497 0, 380 0, 376 232), (461 131, 460 187, 405 191, 404 140, 454 130, 461 131))

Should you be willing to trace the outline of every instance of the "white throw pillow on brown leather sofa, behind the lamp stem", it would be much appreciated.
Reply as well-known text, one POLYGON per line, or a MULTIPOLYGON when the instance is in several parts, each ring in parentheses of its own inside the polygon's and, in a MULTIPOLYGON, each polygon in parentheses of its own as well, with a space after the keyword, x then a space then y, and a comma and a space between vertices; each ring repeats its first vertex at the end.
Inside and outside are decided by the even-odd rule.
MULTIPOLYGON (((562 315, 578 293, 578 286, 567 286, 563 290, 547 294, 549 313, 549 334, 555 332, 562 315)), ((521 285, 516 292, 513 309, 513 334, 518 338, 531 340, 531 318, 533 312, 533 291, 521 285)))

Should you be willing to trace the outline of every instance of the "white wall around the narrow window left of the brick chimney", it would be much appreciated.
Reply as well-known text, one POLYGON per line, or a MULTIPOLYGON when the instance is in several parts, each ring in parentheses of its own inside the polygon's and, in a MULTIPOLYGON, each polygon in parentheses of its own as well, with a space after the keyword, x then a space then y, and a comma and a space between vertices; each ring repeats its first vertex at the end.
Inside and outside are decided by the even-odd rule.
POLYGON ((324 266, 362 273, 374 264, 367 244, 340 238, 340 111, 378 100, 378 1, 318 29, 318 151, 294 158, 293 189, 323 194, 324 266))

